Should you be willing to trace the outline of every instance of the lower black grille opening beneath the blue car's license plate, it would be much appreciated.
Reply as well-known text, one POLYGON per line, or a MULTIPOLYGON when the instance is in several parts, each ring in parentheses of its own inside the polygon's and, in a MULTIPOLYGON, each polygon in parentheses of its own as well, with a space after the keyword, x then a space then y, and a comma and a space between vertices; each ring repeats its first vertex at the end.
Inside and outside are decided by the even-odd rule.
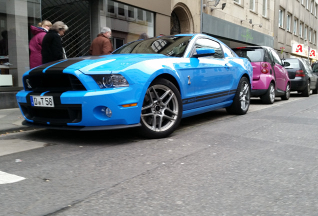
POLYGON ((66 125, 66 123, 76 123, 81 121, 81 105, 80 104, 59 104, 52 108, 34 107, 27 103, 19 103, 21 111, 29 120, 34 123, 47 122, 50 125, 66 125))

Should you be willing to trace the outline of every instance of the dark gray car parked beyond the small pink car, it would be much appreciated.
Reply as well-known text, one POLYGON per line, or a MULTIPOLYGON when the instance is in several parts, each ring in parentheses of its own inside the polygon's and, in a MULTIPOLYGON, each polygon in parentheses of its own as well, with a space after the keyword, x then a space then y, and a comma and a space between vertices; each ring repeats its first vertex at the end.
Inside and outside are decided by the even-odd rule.
POLYGON ((318 93, 317 75, 313 72, 309 62, 302 58, 283 58, 282 62, 288 62, 286 66, 291 83, 290 91, 298 91, 302 96, 318 93))

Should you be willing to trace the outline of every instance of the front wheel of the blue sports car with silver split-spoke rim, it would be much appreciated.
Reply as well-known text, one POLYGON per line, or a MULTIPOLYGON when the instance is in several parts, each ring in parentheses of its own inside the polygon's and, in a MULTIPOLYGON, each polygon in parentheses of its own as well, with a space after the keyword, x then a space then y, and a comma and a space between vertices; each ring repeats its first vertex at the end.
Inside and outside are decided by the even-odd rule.
POLYGON ((158 78, 148 87, 140 116, 140 133, 147 138, 163 138, 179 125, 182 102, 178 89, 168 80, 158 78))

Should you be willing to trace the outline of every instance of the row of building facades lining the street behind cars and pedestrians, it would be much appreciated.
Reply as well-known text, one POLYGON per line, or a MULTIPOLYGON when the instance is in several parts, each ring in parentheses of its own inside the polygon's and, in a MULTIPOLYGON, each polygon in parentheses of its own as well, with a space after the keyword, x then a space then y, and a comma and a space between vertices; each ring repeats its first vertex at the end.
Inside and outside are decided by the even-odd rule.
POLYGON ((67 57, 88 54, 100 28, 115 48, 149 36, 202 32, 229 47, 266 45, 314 61, 318 0, 0 0, 0 108, 16 107, 29 69, 30 25, 61 20, 67 57))

